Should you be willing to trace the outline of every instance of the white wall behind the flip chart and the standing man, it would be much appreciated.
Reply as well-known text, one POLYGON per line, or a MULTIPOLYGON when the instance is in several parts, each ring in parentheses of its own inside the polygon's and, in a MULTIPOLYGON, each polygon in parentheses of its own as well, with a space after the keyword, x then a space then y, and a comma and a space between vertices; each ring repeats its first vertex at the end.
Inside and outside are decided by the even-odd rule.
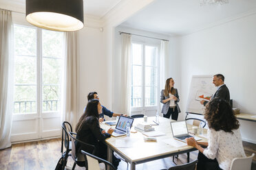
MULTIPOLYGON (((256 14, 180 38, 182 112, 186 110, 192 75, 222 73, 233 106, 255 112, 256 14)), ((244 141, 256 143, 256 123, 240 121, 244 141)))

